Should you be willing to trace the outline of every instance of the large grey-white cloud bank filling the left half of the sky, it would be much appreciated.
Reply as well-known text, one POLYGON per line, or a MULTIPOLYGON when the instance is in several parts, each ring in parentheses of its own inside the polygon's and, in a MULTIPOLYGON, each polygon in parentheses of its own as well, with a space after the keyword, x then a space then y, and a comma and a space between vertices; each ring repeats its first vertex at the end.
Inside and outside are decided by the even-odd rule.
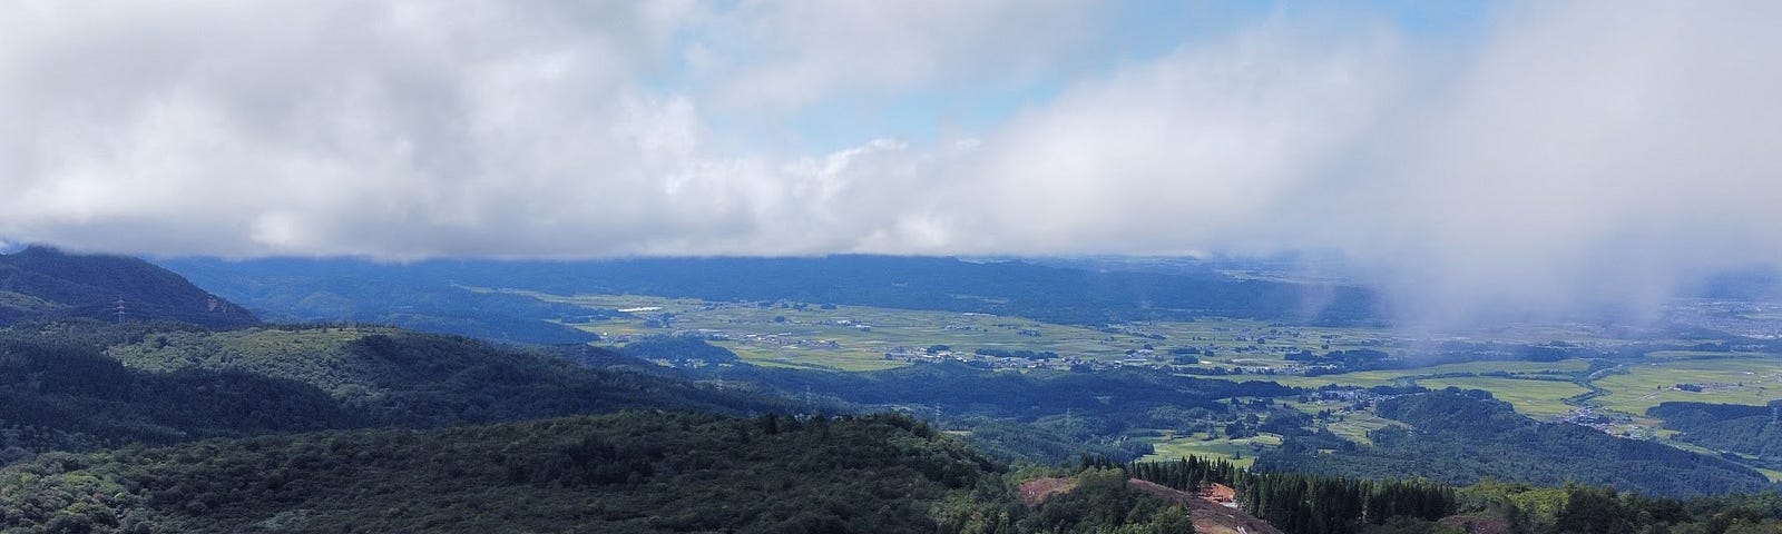
POLYGON ((688 5, 37 7, 0 27, 12 239, 232 256, 827 253, 898 246, 898 210, 934 180, 916 171, 932 157, 896 141, 715 151, 699 103, 652 85, 677 32, 711 16, 688 5))

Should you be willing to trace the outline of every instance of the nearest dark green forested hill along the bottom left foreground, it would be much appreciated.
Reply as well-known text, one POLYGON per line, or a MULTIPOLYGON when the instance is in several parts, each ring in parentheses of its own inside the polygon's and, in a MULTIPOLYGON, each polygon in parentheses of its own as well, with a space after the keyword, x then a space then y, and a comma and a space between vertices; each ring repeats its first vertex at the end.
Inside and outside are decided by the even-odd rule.
POLYGON ((936 532, 996 470, 905 417, 658 411, 52 454, 0 470, 0 511, 18 532, 936 532))

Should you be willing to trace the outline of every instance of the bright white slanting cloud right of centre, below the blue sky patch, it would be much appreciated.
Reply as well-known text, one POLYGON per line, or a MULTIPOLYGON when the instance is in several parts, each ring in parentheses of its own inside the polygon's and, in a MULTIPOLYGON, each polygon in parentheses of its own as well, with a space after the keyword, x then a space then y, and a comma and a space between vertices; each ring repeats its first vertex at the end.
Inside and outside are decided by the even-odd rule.
POLYGON ((984 247, 1183 253, 1255 239, 1361 146, 1404 77, 1386 34, 1285 20, 1082 84, 960 169, 984 247))

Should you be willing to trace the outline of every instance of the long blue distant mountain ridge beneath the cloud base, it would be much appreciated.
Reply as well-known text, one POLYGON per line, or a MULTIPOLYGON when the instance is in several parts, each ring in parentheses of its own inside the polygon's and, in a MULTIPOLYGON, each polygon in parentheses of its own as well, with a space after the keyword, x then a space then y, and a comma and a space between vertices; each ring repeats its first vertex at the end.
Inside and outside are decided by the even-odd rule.
MULTIPOLYGON (((551 310, 542 303, 497 303, 499 294, 472 295, 463 287, 980 312, 1083 326, 1196 317, 1370 324, 1386 317, 1381 299, 1361 287, 939 256, 431 260, 401 265, 353 258, 171 258, 159 263, 269 317, 340 320, 340 315, 355 315, 405 328, 417 326, 394 320, 403 319, 399 312, 405 310, 390 303, 415 303, 417 295, 426 297, 426 304, 415 306, 426 315, 485 324, 524 319, 549 326, 545 320, 586 313, 551 310), (392 297, 396 294, 399 297, 392 297)), ((476 331, 453 333, 488 338, 476 331)))

